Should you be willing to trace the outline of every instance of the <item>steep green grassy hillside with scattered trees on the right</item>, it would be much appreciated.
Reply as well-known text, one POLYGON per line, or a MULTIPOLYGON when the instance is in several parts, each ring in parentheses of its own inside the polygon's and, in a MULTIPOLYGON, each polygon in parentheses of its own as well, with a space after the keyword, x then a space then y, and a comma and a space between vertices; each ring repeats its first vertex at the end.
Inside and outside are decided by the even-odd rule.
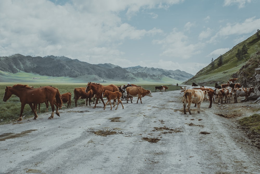
POLYGON ((192 82, 195 82, 198 85, 215 86, 215 83, 226 83, 230 78, 237 77, 237 72, 239 69, 246 64, 250 57, 254 56, 256 52, 259 51, 259 47, 260 37, 257 34, 254 34, 222 55, 222 66, 218 66, 218 57, 214 60, 214 67, 211 67, 211 64, 209 64, 191 79, 183 82, 182 84, 191 85, 192 82), (237 50, 241 50, 244 44, 248 48, 248 54, 245 55, 245 58, 243 56, 241 60, 238 60, 236 58, 237 50))

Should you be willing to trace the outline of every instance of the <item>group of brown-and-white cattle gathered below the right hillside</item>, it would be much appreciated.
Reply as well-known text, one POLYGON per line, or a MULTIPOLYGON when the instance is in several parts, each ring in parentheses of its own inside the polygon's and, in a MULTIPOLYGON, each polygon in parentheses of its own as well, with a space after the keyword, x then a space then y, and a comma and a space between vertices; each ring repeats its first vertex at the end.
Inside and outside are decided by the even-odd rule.
POLYGON ((196 83, 192 83, 192 86, 189 87, 180 87, 181 92, 184 92, 183 99, 183 108, 184 114, 186 114, 186 104, 188 104, 188 110, 190 111, 191 103, 194 103, 195 106, 198 105, 198 113, 200 113, 200 104, 202 101, 210 100, 209 108, 212 106, 212 101, 215 102, 215 99, 218 99, 218 103, 223 103, 225 98, 225 103, 230 103, 232 95, 234 96, 234 103, 237 103, 237 98, 245 97, 245 101, 248 100, 248 97, 251 93, 254 93, 254 87, 251 88, 242 88, 239 83, 235 83, 237 79, 229 79, 227 83, 218 85, 215 83, 215 89, 205 86, 198 86, 196 83))

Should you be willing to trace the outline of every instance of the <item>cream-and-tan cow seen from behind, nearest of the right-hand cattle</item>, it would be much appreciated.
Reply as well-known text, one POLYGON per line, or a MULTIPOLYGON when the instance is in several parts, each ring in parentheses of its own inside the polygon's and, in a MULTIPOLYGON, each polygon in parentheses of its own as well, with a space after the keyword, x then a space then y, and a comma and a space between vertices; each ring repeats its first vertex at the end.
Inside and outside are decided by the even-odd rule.
POLYGON ((186 113, 186 104, 188 103, 188 110, 191 115, 191 103, 197 103, 198 105, 198 113, 200 113, 200 105, 202 104, 203 100, 208 100, 208 91, 202 91, 201 89, 187 89, 184 92, 184 100, 183 100, 183 108, 184 108, 184 114, 186 113))

